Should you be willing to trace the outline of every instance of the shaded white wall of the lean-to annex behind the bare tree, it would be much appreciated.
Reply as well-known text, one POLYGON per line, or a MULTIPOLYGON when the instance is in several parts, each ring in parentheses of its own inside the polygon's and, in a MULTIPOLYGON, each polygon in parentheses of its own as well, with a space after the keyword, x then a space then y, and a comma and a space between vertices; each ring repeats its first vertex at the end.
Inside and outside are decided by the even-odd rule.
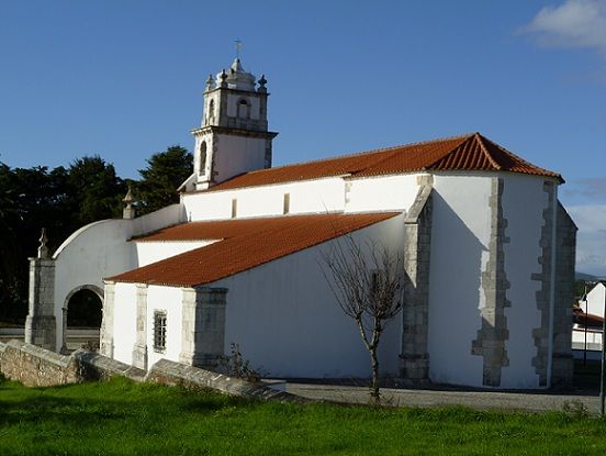
MULTIPOLYGON (((403 247, 403 216, 355 233, 403 247)), ((363 242, 363 241, 362 241, 363 242)), ((343 313, 321 270, 334 241, 210 283, 227 291, 225 349, 239 344, 252 367, 278 377, 369 377, 370 360, 355 322, 343 313), (318 263, 319 262, 319 263, 318 263)), ((402 319, 382 336, 381 372, 397 375, 402 319)))

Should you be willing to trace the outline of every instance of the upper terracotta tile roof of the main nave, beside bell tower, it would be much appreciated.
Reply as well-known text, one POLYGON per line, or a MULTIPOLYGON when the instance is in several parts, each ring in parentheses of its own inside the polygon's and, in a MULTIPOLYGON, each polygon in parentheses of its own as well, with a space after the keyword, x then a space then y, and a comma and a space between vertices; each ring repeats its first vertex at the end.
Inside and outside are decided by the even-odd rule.
POLYGON ((553 177, 563 181, 559 174, 525 162, 480 133, 472 133, 446 140, 246 173, 204 191, 228 190, 333 176, 363 177, 422 170, 509 171, 553 177))

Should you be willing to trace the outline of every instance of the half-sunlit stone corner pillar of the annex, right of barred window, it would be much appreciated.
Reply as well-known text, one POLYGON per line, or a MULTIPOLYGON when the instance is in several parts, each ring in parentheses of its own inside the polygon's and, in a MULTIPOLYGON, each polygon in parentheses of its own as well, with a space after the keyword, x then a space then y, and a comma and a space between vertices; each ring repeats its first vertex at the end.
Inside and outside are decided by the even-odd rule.
POLYGON ((225 356, 225 288, 183 288, 179 362, 216 367, 225 356))

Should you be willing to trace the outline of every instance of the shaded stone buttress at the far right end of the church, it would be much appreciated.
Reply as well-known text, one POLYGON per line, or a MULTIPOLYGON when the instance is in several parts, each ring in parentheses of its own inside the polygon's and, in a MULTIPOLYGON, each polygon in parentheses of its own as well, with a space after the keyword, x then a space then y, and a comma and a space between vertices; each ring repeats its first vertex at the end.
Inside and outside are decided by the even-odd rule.
POLYGON ((574 371, 572 358, 572 304, 574 302, 574 264, 576 225, 558 202, 556 240, 556 303, 553 307, 552 387, 571 387, 574 371))

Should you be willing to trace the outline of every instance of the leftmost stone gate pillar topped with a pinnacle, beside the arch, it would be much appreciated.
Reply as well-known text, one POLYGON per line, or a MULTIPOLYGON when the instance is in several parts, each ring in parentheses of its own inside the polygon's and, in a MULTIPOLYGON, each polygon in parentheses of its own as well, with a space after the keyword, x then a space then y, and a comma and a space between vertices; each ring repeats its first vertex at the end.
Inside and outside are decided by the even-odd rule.
POLYGON ((40 241, 38 256, 30 258, 30 298, 29 313, 25 319, 25 342, 56 352, 55 260, 48 257, 44 229, 40 241))

